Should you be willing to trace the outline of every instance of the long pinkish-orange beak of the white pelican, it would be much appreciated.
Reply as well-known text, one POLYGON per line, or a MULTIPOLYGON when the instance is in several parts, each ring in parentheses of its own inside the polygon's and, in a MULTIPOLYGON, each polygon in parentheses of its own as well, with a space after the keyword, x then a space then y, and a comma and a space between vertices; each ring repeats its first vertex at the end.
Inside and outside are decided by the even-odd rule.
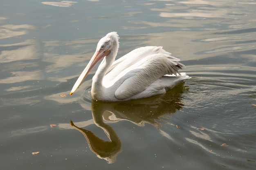
POLYGON ((74 84, 70 95, 72 95, 76 89, 79 87, 79 85, 83 82, 83 79, 88 75, 88 73, 92 70, 92 68, 99 62, 103 57, 107 56, 110 53, 110 50, 108 51, 95 51, 94 55, 92 56, 90 62, 87 64, 81 75, 76 80, 76 83, 74 84))

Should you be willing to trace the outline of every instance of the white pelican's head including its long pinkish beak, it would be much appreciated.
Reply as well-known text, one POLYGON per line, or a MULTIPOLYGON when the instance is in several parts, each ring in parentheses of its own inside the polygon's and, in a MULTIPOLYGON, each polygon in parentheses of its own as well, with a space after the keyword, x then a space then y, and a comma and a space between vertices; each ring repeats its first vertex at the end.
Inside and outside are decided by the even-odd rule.
POLYGON ((96 51, 92 56, 90 62, 87 64, 81 75, 76 80, 70 95, 72 95, 79 85, 83 82, 83 79, 88 75, 88 73, 92 70, 92 68, 99 62, 103 57, 110 55, 115 60, 115 56, 117 55, 117 51, 119 48, 119 36, 117 32, 108 33, 105 37, 101 38, 97 44, 96 51))

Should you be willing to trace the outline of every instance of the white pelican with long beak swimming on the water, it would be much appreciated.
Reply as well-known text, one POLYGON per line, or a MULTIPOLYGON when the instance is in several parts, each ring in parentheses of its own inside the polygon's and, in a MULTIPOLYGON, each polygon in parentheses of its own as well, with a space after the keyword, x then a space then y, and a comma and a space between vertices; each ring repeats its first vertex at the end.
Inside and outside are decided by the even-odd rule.
POLYGON ((96 51, 76 80, 70 95, 102 58, 92 78, 92 99, 117 102, 166 93, 190 77, 180 73, 180 59, 172 57, 162 46, 140 47, 115 60, 119 49, 117 32, 108 33, 97 44, 96 51))

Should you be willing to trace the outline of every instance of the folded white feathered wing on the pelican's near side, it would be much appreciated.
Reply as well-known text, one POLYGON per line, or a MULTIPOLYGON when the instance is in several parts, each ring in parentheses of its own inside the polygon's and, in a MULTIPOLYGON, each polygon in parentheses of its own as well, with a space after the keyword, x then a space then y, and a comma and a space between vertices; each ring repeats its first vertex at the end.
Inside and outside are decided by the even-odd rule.
POLYGON ((122 68, 122 72, 119 72, 117 79, 119 81, 120 79, 123 80, 115 91, 117 99, 126 99, 144 91, 150 84, 166 74, 180 74, 178 68, 182 68, 184 65, 178 62, 179 59, 169 55, 170 53, 162 51, 163 53, 147 55, 140 60, 137 58, 133 64, 126 63, 126 60, 123 60, 116 66, 122 68), (123 62, 128 67, 125 68, 123 62))

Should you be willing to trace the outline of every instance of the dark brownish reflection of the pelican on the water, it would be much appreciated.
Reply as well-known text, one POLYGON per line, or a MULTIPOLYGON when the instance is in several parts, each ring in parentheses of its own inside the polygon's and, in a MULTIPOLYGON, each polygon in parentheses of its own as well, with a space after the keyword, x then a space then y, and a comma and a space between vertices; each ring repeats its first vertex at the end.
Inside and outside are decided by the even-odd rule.
POLYGON ((168 91, 166 95, 157 97, 126 102, 99 102, 92 100, 91 108, 94 124, 106 133, 110 141, 104 141, 91 131, 77 127, 72 121, 70 121, 70 124, 85 136, 90 150, 97 157, 105 159, 108 163, 114 163, 117 155, 121 152, 121 140, 115 130, 105 122, 126 120, 137 126, 144 126, 145 123, 148 123, 155 126, 162 135, 170 139, 171 137, 161 130, 162 123, 168 123, 162 118, 170 119, 172 114, 182 108, 181 99, 184 90, 185 87, 182 83, 168 91))

